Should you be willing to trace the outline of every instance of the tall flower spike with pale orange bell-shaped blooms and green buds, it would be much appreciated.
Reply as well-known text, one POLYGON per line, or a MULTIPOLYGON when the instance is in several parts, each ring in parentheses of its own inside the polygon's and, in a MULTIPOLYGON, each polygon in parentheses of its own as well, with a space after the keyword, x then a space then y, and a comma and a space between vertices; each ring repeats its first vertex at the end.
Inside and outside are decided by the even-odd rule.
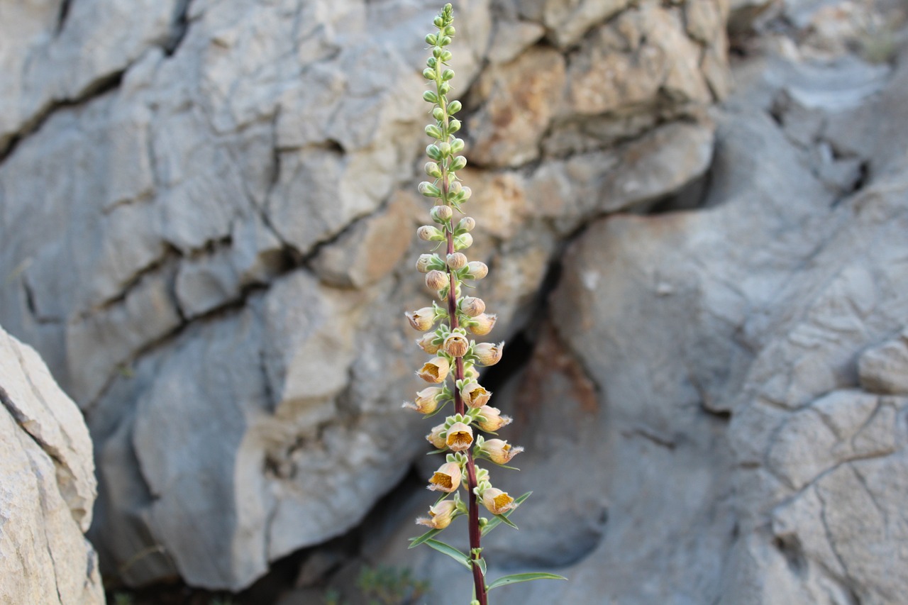
POLYGON ((491 332, 496 316, 486 312, 482 299, 464 296, 462 292, 469 282, 486 277, 489 267, 479 261, 470 261, 462 252, 473 243, 470 232, 476 221, 469 216, 456 219, 454 214, 455 211, 463 214, 463 204, 469 201, 470 190, 458 177, 458 172, 467 165, 467 159, 459 155, 464 143, 456 135, 460 122, 454 117, 461 105, 459 101, 448 99, 450 82, 454 78, 448 50, 455 33, 453 21, 453 9, 451 5, 445 5, 435 17, 438 31, 426 36, 432 55, 422 74, 432 89, 422 98, 432 104, 433 121, 426 126, 426 134, 434 142, 426 147, 429 163, 425 170, 431 181, 419 183, 419 193, 434 200, 429 212, 434 224, 419 227, 417 235, 420 240, 436 243, 435 251, 443 248, 444 253, 422 254, 416 263, 419 273, 425 273, 426 285, 438 293, 440 304, 432 302, 430 307, 406 313, 410 325, 425 332, 416 342, 432 357, 416 372, 429 386, 417 392, 414 400, 404 406, 431 417, 453 402, 454 411, 426 436, 435 448, 432 453, 445 454, 445 461, 429 478, 429 490, 439 492, 439 499, 429 507, 427 517, 417 520, 430 529, 411 539, 410 548, 426 544, 459 561, 473 576, 471 605, 488 605, 489 590, 499 586, 563 578, 550 573, 520 573, 492 582, 486 580, 482 537, 502 523, 517 529, 508 517, 529 493, 513 498, 507 491, 495 487, 489 471, 477 464, 481 460, 511 468, 507 466, 508 462, 523 448, 494 437, 496 431, 511 419, 489 405, 492 393, 479 383, 476 368, 498 363, 504 342, 471 340, 471 335, 485 336, 491 332), (493 438, 487 438, 483 432, 493 438), (479 516, 480 506, 489 517, 479 516), (461 515, 468 518, 469 554, 435 538, 461 515))

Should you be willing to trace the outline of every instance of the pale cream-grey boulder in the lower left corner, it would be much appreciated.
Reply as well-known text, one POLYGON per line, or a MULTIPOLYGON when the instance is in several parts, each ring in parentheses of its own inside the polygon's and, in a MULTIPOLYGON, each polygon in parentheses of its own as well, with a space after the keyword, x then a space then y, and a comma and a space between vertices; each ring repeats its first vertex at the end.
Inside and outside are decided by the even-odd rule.
POLYGON ((104 603, 85 540, 92 441, 37 352, 0 330, 0 602, 104 603))

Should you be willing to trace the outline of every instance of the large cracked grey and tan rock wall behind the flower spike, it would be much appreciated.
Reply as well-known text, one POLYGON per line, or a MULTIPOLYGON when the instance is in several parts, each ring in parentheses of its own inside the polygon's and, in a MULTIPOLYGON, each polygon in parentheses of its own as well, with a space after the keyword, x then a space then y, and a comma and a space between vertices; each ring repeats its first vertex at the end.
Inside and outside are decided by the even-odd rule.
MULTIPOLYGON (((499 481, 535 491, 490 574, 570 578, 508 602, 900 602, 908 7, 454 4, 499 481)), ((0 324, 84 412, 109 582, 469 594, 405 549, 438 9, 0 6, 0 324)))

